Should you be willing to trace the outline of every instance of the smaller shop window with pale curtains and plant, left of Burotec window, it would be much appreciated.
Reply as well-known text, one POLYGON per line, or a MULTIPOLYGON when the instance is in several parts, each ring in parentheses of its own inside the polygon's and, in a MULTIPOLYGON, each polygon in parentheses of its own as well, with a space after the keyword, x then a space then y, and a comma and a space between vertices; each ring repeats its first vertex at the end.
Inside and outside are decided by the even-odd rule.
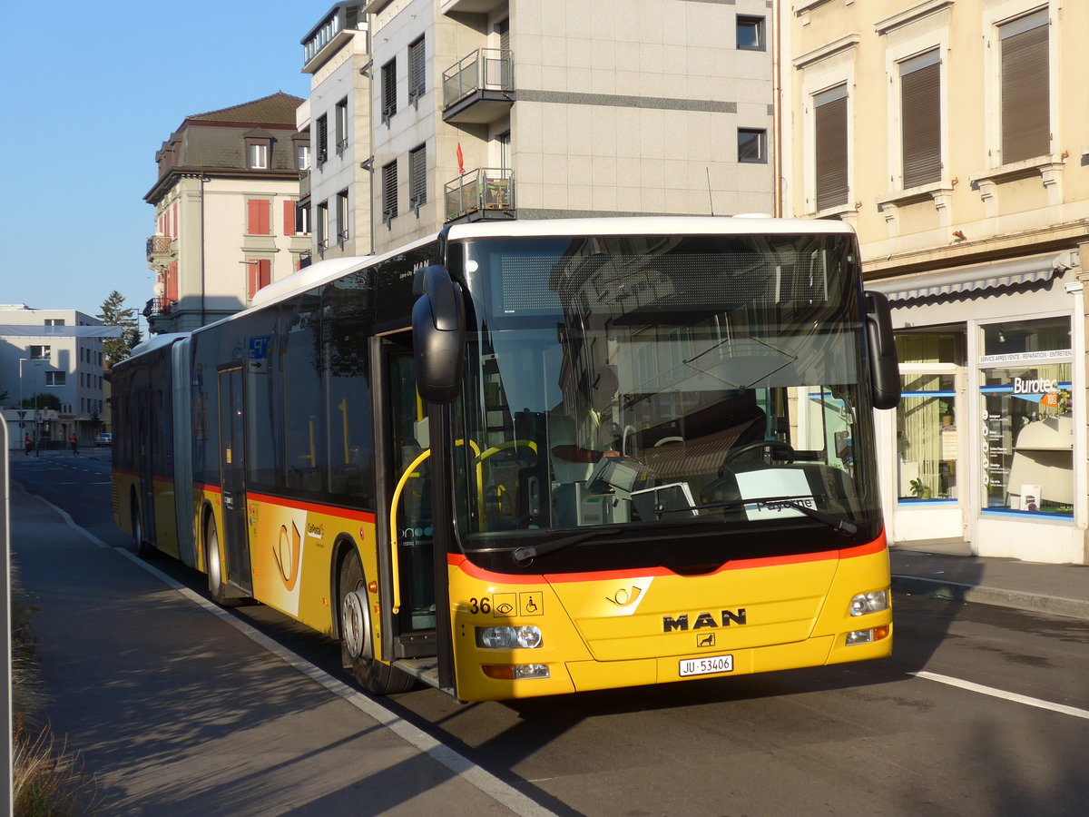
POLYGON ((898 500, 956 500, 957 447, 953 375, 901 377, 896 407, 898 500))

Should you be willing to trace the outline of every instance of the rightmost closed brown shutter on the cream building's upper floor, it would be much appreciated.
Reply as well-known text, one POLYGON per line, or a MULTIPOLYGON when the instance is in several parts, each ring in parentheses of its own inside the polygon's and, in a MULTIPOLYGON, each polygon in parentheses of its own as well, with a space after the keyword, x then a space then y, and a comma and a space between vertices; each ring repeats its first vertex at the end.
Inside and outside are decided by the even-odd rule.
POLYGON ((1002 26, 1003 164, 1051 153, 1049 27, 1047 10, 1002 26))

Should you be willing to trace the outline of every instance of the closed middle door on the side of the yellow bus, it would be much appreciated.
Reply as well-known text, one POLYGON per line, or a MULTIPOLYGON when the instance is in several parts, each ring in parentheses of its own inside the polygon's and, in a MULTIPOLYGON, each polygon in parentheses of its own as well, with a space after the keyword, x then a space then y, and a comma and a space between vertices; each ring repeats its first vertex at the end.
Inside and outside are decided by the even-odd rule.
POLYGON ((253 593, 246 540, 245 414, 242 369, 219 373, 220 487, 223 491, 223 575, 228 584, 253 593))

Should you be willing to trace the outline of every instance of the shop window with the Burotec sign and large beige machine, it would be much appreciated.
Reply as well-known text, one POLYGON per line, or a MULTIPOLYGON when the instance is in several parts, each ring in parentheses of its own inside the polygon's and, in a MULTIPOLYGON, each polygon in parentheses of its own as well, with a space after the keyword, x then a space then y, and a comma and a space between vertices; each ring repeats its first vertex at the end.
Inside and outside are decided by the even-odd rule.
POLYGON ((1073 516, 1073 356, 1065 318, 984 327, 983 510, 1073 516))

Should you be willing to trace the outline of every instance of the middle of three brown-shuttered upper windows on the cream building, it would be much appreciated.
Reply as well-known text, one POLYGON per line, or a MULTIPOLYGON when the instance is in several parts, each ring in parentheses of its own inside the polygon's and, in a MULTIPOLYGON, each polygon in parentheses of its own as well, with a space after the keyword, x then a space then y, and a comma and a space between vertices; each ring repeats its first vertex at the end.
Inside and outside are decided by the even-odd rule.
POLYGON ((942 178, 941 53, 935 48, 900 63, 903 186, 942 178))

